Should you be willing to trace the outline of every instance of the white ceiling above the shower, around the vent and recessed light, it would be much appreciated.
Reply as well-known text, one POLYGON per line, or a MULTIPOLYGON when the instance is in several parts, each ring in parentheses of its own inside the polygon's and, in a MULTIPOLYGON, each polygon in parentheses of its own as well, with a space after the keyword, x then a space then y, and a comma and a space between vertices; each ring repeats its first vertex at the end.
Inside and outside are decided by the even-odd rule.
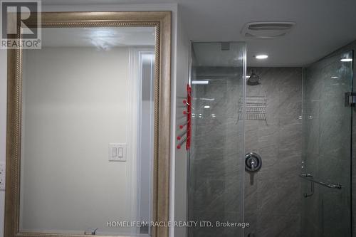
MULTIPOLYGON (((98 4, 98 0, 43 0, 43 4, 98 4)), ((248 39, 248 65, 301 66, 356 39, 355 0, 101 0, 100 4, 178 3, 193 41, 246 41, 251 21, 294 21, 283 38, 248 39), (258 61, 253 55, 266 53, 258 61)))

